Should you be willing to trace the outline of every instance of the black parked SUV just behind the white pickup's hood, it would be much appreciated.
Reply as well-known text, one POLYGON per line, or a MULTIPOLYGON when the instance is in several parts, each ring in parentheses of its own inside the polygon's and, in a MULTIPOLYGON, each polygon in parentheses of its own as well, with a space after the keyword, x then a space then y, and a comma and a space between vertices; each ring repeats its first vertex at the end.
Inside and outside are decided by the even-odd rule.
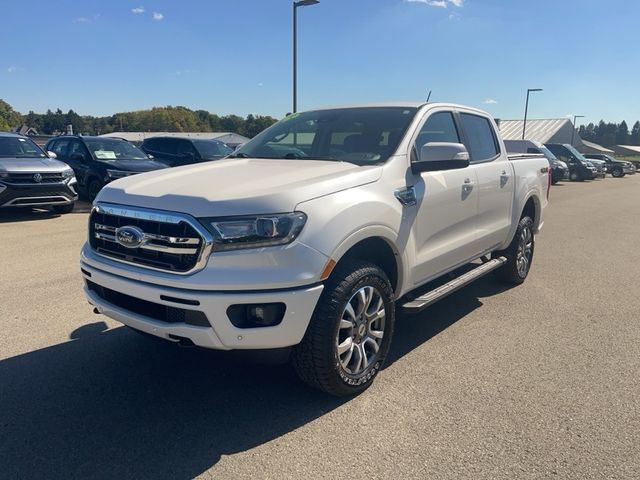
POLYGON ((140 148, 170 167, 219 160, 233 153, 218 140, 179 137, 146 138, 140 148))

